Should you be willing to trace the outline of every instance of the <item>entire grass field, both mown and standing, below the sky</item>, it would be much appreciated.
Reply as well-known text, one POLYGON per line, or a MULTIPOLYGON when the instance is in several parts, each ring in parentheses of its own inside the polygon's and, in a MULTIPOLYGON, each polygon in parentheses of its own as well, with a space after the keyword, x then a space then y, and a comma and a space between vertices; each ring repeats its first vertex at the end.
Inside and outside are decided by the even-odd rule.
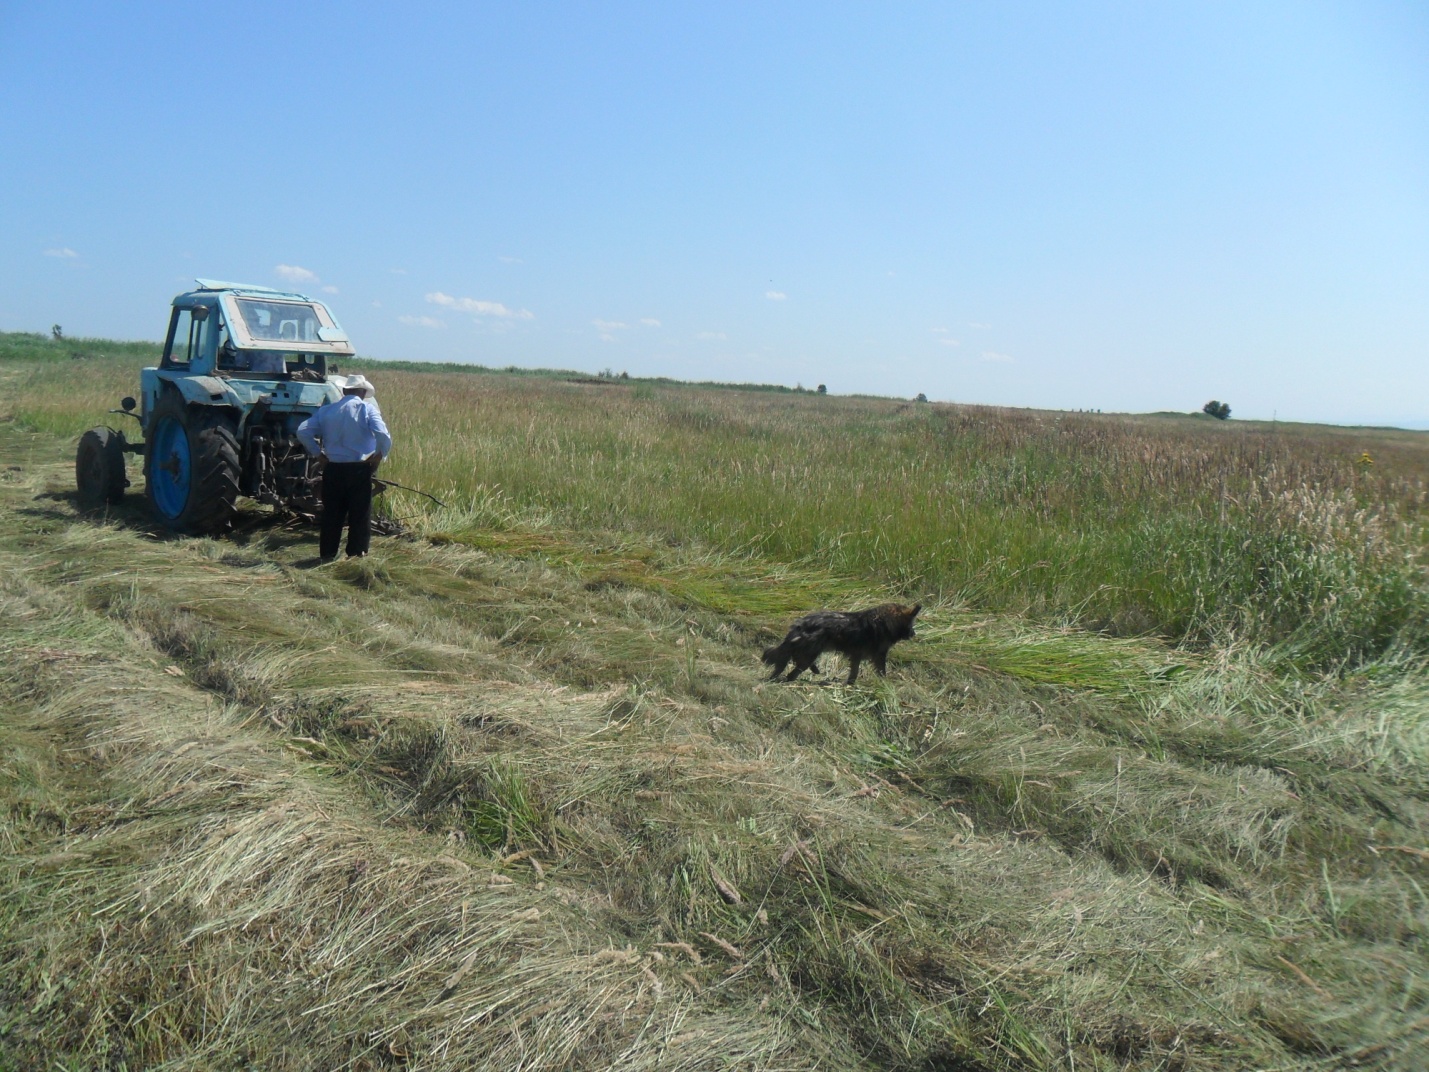
POLYGON ((1429 436, 369 364, 313 569, 76 512, 151 353, 0 336, 0 1068, 1422 1068, 1429 436))

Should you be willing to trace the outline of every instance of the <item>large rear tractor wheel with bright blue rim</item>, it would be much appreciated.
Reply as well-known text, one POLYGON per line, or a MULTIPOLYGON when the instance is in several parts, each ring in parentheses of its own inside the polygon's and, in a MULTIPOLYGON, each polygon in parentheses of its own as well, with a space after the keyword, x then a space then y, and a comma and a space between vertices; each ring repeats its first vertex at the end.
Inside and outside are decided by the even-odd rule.
POLYGON ((154 406, 144 485, 159 522, 191 536, 227 532, 239 497, 239 440, 221 409, 166 394, 154 406))

